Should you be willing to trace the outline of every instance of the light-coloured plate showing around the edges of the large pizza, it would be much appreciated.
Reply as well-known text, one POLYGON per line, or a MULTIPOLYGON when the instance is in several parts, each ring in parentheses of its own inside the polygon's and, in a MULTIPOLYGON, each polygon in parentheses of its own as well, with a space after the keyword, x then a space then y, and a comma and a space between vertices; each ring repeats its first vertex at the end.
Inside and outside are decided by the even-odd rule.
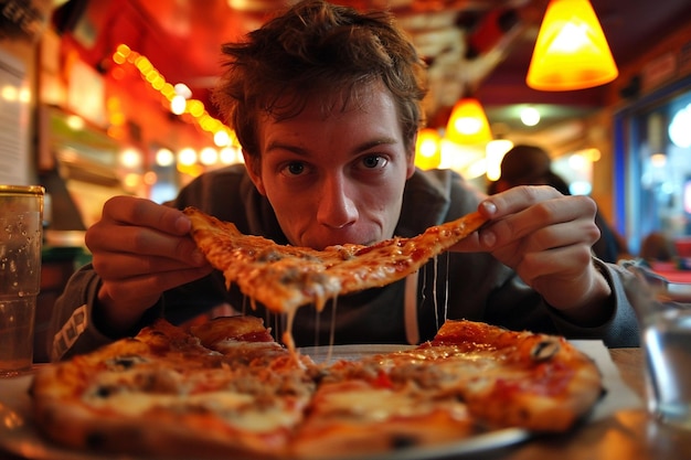
MULTIPOLYGON (((401 345, 344 345, 304 349, 315 361, 352 359, 370 353, 401 350, 401 345)), ((104 454, 74 450, 59 446, 41 436, 33 420, 29 386, 31 375, 0 379, 0 453, 1 450, 31 460, 153 460, 150 457, 104 454)), ((146 428, 145 428, 146 429, 146 428)), ((392 452, 359 457, 359 460, 433 460, 449 456, 468 456, 517 445, 528 440, 532 434, 524 429, 510 428, 464 438, 458 442, 428 447, 402 448, 392 452)), ((0 456, 1 457, 1 456, 0 456)), ((240 460, 240 459, 233 459, 240 460)))

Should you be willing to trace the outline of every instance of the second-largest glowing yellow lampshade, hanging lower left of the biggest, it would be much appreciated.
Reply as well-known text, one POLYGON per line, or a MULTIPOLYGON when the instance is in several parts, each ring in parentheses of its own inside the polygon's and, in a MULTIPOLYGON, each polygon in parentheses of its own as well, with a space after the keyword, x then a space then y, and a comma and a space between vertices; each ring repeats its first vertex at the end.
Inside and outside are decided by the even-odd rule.
POLYGON ((456 103, 446 126, 446 139, 465 145, 492 140, 485 109, 478 99, 466 97, 456 103))

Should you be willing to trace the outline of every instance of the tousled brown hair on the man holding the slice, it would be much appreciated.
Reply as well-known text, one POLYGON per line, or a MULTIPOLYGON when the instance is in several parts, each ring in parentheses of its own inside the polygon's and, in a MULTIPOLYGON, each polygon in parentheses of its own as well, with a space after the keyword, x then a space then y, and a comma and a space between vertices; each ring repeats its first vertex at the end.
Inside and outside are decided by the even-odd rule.
POLYGON ((414 151, 425 64, 391 14, 306 0, 222 51, 226 61, 213 100, 247 154, 258 156, 262 115, 291 118, 310 100, 321 100, 326 114, 343 110, 378 82, 391 92, 414 151))

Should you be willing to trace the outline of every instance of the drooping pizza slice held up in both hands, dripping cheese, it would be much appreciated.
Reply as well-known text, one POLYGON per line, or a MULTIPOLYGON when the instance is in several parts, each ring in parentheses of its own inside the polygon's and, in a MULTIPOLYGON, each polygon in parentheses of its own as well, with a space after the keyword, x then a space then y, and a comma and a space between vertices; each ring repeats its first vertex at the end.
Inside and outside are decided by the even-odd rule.
POLYGON ((471 213, 412 238, 315 250, 245 235, 234 224, 193 207, 184 213, 192 221, 196 245, 211 265, 223 271, 228 287, 237 284, 253 301, 275 312, 291 312, 307 303, 321 310, 328 299, 339 295, 402 279, 486 222, 479 213, 471 213))

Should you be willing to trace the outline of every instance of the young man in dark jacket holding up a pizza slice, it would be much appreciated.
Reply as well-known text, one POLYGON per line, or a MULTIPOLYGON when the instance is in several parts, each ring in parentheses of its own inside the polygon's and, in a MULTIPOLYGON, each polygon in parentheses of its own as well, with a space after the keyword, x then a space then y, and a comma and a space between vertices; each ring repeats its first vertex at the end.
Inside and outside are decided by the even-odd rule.
POLYGON ((551 188, 482 200, 453 172, 415 170, 424 67, 390 17, 308 0, 223 51, 216 101, 246 168, 198 178, 172 207, 107 202, 86 234, 93 266, 55 306, 54 359, 136 333, 159 314, 181 322, 225 303, 280 336, 283 318, 226 291, 196 250, 179 211, 187 205, 317 249, 414 236, 477 208, 491 220, 405 280, 341 296, 320 314, 299 309, 298 345, 418 342, 445 317, 637 341, 624 274, 591 257, 599 236, 592 200, 551 188))

